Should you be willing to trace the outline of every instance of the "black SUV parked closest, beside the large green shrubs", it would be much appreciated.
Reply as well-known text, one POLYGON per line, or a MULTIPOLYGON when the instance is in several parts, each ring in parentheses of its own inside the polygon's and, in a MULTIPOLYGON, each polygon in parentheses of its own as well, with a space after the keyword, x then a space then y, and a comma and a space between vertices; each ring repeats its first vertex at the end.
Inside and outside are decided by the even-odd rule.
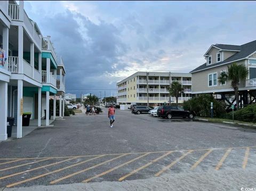
POLYGON ((173 117, 183 117, 193 119, 195 117, 194 112, 185 111, 181 107, 177 106, 160 106, 157 109, 157 115, 162 118, 172 119, 173 117))

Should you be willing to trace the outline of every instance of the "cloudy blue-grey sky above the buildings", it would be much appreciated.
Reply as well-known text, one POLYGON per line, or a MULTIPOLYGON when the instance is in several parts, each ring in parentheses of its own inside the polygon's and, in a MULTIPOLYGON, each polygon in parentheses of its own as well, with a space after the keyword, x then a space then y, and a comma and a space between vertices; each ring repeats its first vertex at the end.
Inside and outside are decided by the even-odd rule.
POLYGON ((66 68, 66 93, 116 95, 137 71, 189 72, 211 44, 255 40, 256 2, 25 1, 66 68))

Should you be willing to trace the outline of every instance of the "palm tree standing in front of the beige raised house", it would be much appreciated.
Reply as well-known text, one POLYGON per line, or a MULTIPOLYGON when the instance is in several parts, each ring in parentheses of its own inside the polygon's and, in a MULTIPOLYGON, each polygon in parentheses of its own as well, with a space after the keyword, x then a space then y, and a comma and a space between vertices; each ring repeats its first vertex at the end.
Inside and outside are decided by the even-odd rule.
POLYGON ((225 84, 226 81, 231 81, 231 87, 234 89, 235 92, 237 110, 239 110, 239 81, 245 81, 248 73, 249 71, 244 64, 238 65, 234 63, 232 65, 228 65, 228 71, 222 71, 220 73, 220 77, 218 78, 221 84, 225 84))

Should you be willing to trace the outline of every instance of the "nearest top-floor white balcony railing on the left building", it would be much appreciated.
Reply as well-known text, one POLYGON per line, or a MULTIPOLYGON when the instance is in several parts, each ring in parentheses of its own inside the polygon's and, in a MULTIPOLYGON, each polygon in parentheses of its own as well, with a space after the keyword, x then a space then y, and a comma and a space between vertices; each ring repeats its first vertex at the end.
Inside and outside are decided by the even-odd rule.
POLYGON ((30 37, 34 39, 38 47, 41 47, 41 37, 37 34, 34 27, 34 22, 29 19, 25 10, 21 10, 19 5, 9 4, 8 14, 13 21, 23 21, 30 37), (21 18, 22 16, 23 19, 21 18))

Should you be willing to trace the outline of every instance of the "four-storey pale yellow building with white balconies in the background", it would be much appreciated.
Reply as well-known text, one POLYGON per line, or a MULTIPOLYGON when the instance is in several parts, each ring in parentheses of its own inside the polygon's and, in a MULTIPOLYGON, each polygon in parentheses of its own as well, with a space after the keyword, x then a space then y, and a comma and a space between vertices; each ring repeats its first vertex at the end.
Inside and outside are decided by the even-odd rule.
POLYGON ((184 89, 178 102, 188 100, 191 97, 192 85, 190 73, 136 72, 117 82, 117 103, 146 105, 149 102, 153 106, 170 103, 170 99, 171 103, 175 103, 175 97, 170 96, 167 90, 173 81, 180 82, 184 89))

